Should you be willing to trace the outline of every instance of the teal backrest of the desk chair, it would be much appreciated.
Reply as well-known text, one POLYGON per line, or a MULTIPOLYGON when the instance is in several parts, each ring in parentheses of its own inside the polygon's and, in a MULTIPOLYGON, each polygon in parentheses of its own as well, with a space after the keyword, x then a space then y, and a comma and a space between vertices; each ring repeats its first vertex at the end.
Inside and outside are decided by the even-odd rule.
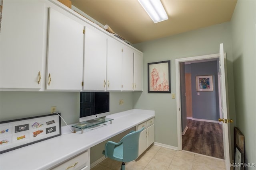
POLYGON ((130 162, 138 157, 140 132, 143 130, 144 127, 138 131, 132 131, 120 140, 123 144, 123 162, 130 162))

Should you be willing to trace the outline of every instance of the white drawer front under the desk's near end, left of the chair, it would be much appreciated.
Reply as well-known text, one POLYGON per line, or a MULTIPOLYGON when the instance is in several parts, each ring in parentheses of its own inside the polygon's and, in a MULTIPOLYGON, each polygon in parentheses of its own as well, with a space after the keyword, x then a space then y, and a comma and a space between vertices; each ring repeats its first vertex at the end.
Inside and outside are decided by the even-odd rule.
POLYGON ((90 149, 54 166, 50 170, 90 170, 90 149))

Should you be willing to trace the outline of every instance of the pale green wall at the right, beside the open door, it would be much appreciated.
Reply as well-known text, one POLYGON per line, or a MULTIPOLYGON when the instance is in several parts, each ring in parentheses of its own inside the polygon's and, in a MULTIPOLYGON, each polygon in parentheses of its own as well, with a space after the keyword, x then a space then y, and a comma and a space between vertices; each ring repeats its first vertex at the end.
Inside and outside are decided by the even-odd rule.
MULTIPOLYGON (((231 20, 236 125, 247 163, 256 163, 256 1, 239 0, 231 20)), ((250 169, 250 168, 249 168, 250 169)), ((251 169, 256 169, 251 168, 251 169)))

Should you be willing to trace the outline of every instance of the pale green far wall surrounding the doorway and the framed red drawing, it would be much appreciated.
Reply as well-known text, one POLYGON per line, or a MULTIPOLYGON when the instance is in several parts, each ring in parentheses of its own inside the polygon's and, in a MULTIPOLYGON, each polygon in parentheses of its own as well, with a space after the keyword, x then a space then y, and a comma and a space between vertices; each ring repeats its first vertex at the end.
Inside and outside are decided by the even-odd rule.
MULTIPOLYGON (((168 28, 166 28, 168 29, 168 28)), ((133 92, 134 108, 155 110, 155 142, 177 147, 176 99, 171 94, 148 93, 147 63, 171 61, 171 92, 176 93, 175 59, 219 53, 224 43, 227 53, 227 78, 230 117, 235 119, 233 58, 230 22, 186 33, 135 44, 143 54, 143 92, 133 92)), ((234 125, 231 125, 233 129, 234 125)), ((231 135, 233 131, 231 131, 231 135)))

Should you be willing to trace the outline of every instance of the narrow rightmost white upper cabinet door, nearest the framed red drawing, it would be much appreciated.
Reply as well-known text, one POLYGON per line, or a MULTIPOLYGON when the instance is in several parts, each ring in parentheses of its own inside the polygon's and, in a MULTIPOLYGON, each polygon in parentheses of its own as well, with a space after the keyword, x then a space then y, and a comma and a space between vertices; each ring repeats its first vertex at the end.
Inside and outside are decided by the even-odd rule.
POLYGON ((142 54, 134 52, 134 91, 142 91, 142 54))

